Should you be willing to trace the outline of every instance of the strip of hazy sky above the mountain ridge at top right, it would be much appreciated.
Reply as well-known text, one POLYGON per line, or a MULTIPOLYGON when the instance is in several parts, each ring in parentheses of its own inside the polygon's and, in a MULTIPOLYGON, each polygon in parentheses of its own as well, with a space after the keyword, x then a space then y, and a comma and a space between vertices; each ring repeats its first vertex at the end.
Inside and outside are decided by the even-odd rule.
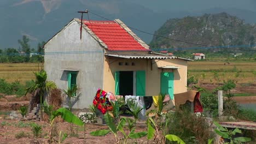
MULTIPOLYGON (((126 0, 129 1, 129 0, 126 0)), ((238 8, 256 11, 256 0, 130 0, 155 11, 198 11, 210 8, 238 8)))

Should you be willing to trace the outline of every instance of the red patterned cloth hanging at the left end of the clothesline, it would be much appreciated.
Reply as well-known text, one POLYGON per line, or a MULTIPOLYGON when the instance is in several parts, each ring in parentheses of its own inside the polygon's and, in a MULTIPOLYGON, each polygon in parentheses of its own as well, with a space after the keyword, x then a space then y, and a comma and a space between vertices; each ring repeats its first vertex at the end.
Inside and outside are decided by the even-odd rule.
POLYGON ((100 110, 103 114, 105 114, 107 111, 113 110, 113 107, 110 104, 106 95, 107 92, 103 91, 102 89, 98 89, 94 100, 92 101, 94 106, 96 106, 97 109, 100 110))

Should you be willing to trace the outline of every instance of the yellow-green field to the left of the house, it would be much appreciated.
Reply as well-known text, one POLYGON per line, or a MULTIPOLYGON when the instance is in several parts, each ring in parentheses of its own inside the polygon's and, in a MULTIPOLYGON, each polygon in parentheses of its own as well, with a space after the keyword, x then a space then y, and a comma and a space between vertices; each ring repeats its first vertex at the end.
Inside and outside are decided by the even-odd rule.
POLYGON ((41 69, 43 63, 0 63, 0 77, 7 82, 15 80, 25 84, 34 79, 33 72, 41 69))

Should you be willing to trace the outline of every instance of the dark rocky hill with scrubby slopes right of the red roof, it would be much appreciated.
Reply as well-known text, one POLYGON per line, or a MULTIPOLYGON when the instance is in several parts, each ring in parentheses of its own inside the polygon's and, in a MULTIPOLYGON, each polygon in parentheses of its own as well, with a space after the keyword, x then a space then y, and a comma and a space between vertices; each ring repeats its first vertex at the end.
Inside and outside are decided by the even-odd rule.
MULTIPOLYGON (((169 19, 155 34, 207 46, 254 45, 256 25, 227 13, 204 14, 169 19)), ((171 39, 153 37, 150 45, 157 48, 202 47, 171 39)))

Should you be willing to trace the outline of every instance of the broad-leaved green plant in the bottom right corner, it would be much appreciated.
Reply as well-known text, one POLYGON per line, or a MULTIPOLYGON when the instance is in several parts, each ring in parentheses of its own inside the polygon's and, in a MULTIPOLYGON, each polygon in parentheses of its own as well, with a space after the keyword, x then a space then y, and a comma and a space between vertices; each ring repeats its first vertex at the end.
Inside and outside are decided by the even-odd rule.
POLYGON ((214 125, 218 129, 214 129, 215 133, 222 136, 224 139, 228 139, 229 142, 226 143, 240 143, 240 142, 248 142, 251 141, 251 138, 248 137, 235 137, 233 138, 236 133, 241 134, 242 131, 238 128, 235 128, 234 130, 228 130, 227 128, 222 127, 219 123, 214 122, 214 125))

